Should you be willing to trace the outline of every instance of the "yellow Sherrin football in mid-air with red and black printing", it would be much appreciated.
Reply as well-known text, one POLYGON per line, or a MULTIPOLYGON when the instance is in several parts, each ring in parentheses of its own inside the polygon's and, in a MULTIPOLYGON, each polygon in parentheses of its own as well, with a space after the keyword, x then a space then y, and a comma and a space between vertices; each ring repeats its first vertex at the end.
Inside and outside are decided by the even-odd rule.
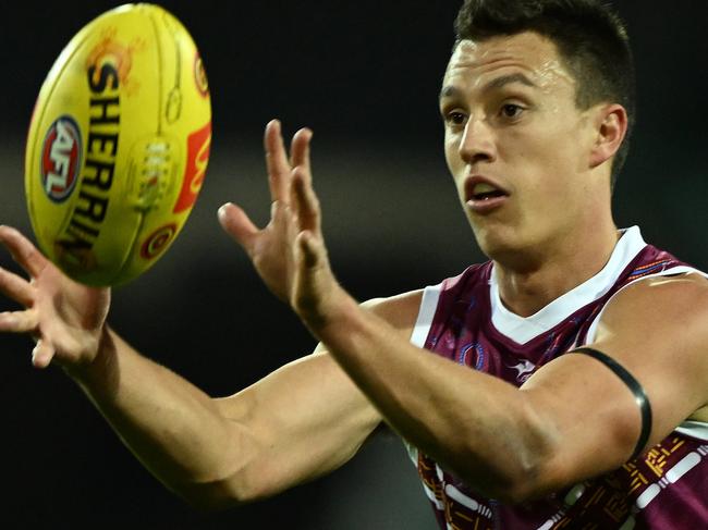
POLYGON ((88 285, 135 279, 164 255, 202 188, 209 87, 185 27, 126 4, 81 29, 39 91, 25 193, 42 251, 88 285))

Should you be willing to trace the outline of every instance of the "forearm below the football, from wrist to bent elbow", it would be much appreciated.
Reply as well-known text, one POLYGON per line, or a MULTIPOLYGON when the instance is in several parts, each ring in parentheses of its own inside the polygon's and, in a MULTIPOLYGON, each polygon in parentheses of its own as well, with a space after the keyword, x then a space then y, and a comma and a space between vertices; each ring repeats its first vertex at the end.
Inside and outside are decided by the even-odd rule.
POLYGON ((112 331, 96 360, 70 374, 143 465, 190 502, 221 502, 211 497, 222 496, 222 484, 253 455, 255 441, 243 426, 112 331))

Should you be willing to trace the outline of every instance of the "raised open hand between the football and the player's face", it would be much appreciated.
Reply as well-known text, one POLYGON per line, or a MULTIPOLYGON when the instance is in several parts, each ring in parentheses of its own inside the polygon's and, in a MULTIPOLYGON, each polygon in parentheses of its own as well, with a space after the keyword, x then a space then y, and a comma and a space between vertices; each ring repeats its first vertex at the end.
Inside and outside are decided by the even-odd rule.
POLYGON ((312 185, 312 136, 307 128, 298 131, 289 159, 280 122, 266 126, 271 217, 264 229, 231 202, 219 209, 222 227, 245 249, 268 288, 310 328, 321 325, 338 297, 346 296, 331 272, 322 238, 319 200, 312 185))

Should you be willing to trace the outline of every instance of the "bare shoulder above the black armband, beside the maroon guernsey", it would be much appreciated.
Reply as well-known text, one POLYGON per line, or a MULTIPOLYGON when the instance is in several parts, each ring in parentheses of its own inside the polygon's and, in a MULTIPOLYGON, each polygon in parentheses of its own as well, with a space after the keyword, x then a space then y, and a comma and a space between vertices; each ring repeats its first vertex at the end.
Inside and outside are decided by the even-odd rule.
POLYGON ((626 286, 608 303, 596 347, 628 369, 672 418, 664 427, 675 427, 708 405, 708 280, 687 273, 626 286))

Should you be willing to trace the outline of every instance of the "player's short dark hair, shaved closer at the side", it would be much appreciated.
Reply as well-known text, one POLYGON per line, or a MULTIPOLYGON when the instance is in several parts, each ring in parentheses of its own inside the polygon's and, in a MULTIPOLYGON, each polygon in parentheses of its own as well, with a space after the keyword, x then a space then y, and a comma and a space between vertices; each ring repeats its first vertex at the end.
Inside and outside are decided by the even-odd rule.
POLYGON ((465 0, 455 20, 456 42, 523 32, 537 33, 556 44, 577 83, 579 109, 603 101, 626 109, 628 130, 612 167, 614 187, 636 114, 634 59, 624 23, 600 0, 465 0))

